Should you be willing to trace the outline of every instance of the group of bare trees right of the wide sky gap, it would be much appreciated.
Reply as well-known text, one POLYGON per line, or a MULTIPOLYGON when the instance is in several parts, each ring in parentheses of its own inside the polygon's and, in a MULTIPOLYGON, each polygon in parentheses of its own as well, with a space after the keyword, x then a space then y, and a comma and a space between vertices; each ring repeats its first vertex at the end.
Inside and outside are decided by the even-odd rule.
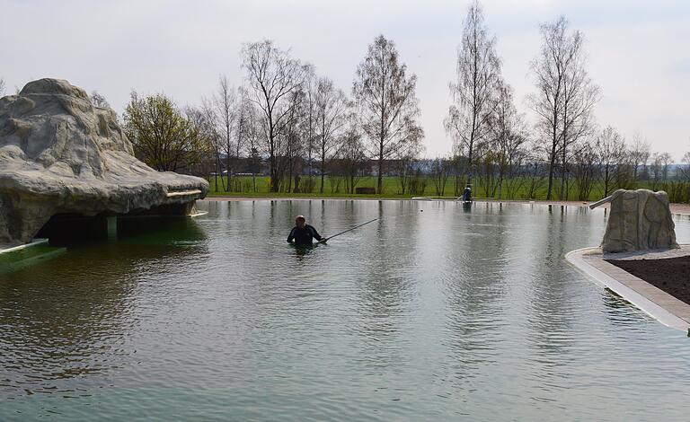
MULTIPOLYGON (((564 17, 545 23, 540 33, 542 46, 530 66, 535 92, 526 99, 535 112, 529 130, 501 75, 497 40, 484 23, 482 8, 476 1, 470 5, 456 80, 449 85, 453 103, 444 122, 454 141, 450 163, 456 194, 465 182, 479 180, 486 196, 501 198, 503 182, 509 179, 509 190, 526 191, 528 198, 545 189, 547 199, 568 199, 576 189, 577 198, 587 199, 599 181, 608 195, 636 186, 640 179, 651 180, 652 189, 659 180, 668 180, 669 154, 650 154, 639 134, 626 145, 614 127, 597 125, 593 112, 601 90, 588 75, 582 33, 571 31, 564 17)), ((688 165, 683 174, 690 173, 685 170, 690 168, 690 153, 684 160, 688 165)), ((435 169, 442 167, 439 163, 435 169)), ((435 180, 443 180, 438 171, 435 180)))

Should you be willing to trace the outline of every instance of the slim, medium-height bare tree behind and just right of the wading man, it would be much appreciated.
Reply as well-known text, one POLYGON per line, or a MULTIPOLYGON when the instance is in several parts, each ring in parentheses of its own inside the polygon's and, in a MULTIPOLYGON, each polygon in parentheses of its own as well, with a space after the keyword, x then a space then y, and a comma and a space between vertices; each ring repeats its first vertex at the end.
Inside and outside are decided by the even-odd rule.
POLYGON ((332 156, 337 154, 340 132, 346 123, 349 101, 345 93, 333 85, 332 80, 322 77, 316 81, 314 92, 316 115, 316 148, 320 163, 321 187, 323 193, 323 178, 326 164, 332 156))

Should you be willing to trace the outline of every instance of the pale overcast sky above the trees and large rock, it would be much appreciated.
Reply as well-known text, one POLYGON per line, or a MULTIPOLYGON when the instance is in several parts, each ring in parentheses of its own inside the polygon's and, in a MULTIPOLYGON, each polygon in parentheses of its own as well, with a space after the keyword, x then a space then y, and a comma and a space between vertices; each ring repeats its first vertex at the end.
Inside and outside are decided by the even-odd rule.
MULTIPOLYGON (((101 92, 121 112, 131 89, 199 104, 226 74, 242 84, 243 42, 271 39, 350 93, 376 35, 394 40, 417 95, 427 154, 447 154, 443 129, 468 0, 49 1, 0 0, 0 77, 7 92, 56 77, 101 92)), ((538 27, 565 15, 585 34, 602 88, 597 122, 679 161, 690 151, 690 1, 485 0, 503 75, 526 108, 538 27)))

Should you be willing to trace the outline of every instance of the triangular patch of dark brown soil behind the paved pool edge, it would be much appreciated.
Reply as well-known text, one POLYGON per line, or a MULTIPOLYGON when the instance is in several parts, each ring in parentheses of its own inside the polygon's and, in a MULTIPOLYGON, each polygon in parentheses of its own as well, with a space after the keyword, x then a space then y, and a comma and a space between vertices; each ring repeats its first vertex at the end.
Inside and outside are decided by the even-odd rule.
POLYGON ((690 255, 667 259, 606 259, 606 262, 690 304, 690 255))

